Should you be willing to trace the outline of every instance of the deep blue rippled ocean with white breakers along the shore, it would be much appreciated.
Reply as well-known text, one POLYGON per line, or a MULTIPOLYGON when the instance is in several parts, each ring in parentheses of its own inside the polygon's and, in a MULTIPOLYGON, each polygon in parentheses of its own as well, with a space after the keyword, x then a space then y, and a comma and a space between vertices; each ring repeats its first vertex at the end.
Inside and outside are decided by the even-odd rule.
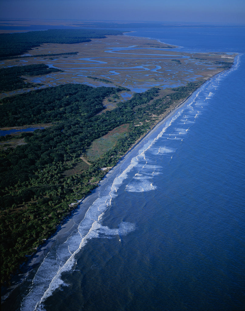
POLYGON ((134 34, 239 54, 106 176, 6 310, 245 309, 245 28, 134 34))

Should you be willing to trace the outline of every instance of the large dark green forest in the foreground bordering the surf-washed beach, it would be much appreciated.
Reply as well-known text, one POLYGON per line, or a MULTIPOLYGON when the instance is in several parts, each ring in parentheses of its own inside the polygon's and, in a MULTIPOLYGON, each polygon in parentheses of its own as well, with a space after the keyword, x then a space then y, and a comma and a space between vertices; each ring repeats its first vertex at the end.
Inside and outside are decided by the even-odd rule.
POLYGON ((22 133, 15 139, 25 144, 0 150, 2 282, 55 231, 72 210, 69 204, 96 187, 106 173, 100 168, 115 165, 155 123, 156 115, 198 86, 173 88, 158 99, 154 97, 159 89, 152 88, 105 113, 99 113, 103 99, 125 89, 66 84, 3 99, 0 126, 53 125, 22 133), (127 133, 96 162, 89 166, 80 159, 95 139, 125 123, 129 124, 127 133))

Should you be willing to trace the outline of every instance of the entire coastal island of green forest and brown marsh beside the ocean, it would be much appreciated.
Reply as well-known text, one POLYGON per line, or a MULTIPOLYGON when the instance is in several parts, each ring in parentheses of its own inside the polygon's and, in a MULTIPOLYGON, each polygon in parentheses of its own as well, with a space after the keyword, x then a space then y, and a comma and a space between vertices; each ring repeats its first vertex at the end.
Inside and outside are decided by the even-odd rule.
POLYGON ((0 35, 9 47, 0 64, 2 284, 118 160, 235 57, 74 31, 75 39, 72 30, 0 35))

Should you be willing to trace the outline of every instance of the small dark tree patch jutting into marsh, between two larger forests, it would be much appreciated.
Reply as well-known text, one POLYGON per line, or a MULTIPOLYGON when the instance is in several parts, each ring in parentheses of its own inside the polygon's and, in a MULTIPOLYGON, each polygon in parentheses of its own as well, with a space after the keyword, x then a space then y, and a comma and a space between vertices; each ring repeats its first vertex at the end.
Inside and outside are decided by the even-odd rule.
POLYGON ((44 64, 2 68, 0 69, 0 92, 35 86, 33 83, 25 82, 25 79, 20 76, 39 76, 57 71, 62 70, 49 68, 49 66, 44 64))

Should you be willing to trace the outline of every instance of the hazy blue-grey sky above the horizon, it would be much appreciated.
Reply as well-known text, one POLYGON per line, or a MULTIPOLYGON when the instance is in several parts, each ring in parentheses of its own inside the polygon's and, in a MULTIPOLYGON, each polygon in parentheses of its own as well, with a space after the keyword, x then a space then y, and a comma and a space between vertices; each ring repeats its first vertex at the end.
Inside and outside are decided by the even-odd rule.
POLYGON ((245 0, 0 0, 0 17, 245 23, 245 0))

